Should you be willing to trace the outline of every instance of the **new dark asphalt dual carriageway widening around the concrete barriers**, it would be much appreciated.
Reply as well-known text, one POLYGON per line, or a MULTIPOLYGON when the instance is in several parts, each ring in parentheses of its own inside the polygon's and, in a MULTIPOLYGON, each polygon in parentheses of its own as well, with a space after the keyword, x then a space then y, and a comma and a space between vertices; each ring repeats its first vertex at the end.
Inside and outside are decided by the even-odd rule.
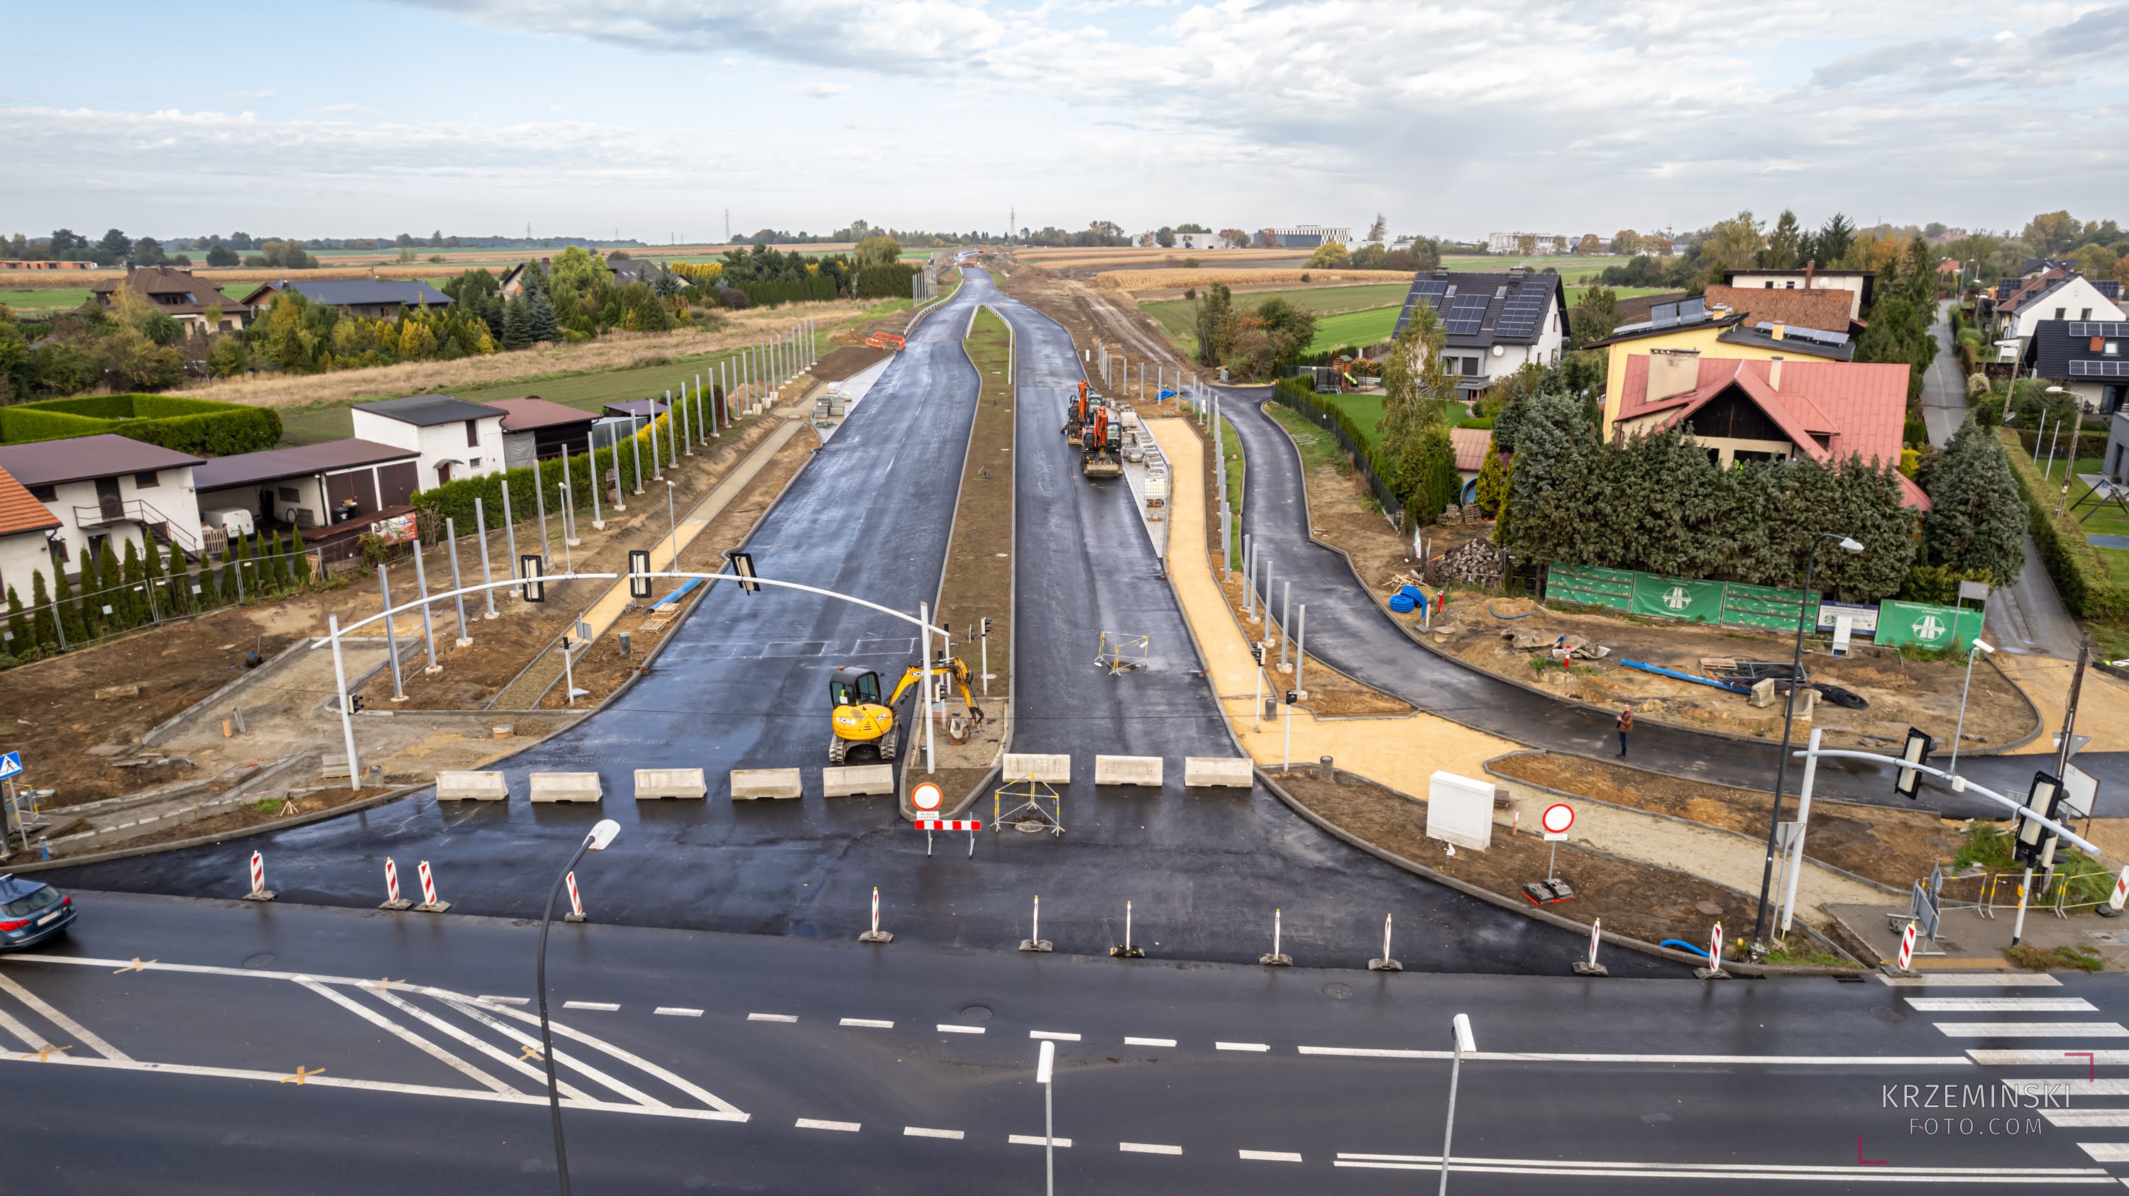
MULTIPOLYGON (((999 294, 988 275, 971 270, 924 319, 764 517, 749 541, 760 575, 903 611, 935 596, 977 392, 958 343, 979 302, 1013 323, 1020 360, 1011 747, 1073 755, 1062 838, 986 830, 969 860, 962 836, 941 834, 926 858, 924 834, 892 798, 822 798, 826 672, 849 660, 884 672, 913 660, 907 624, 720 585, 611 709, 500 764, 509 802, 439 807, 422 794, 304 828, 66 868, 53 883, 234 896, 258 849, 283 902, 373 907, 390 856, 409 887, 415 862, 428 860, 439 896, 460 913, 530 917, 554 883, 547 868, 605 815, 622 824, 632 862, 581 866, 583 902, 594 917, 634 926, 854 938, 877 885, 884 928, 909 943, 1009 951, 1028 938, 1039 894, 1041 936, 1064 953, 1122 943, 1130 900, 1133 943, 1156 958, 1254 962, 1271 949, 1277 907, 1282 947, 1303 964, 1365 966, 1382 951, 1384 915, 1394 915, 1392 951, 1407 968, 1567 973, 1584 949, 1575 932, 1346 847, 1262 787, 1182 787, 1184 755, 1237 749, 1130 492, 1120 479, 1084 479, 1060 434, 1064 394, 1079 379, 1069 334, 999 294), (1094 662, 1099 630, 1152 636, 1152 666, 1109 677, 1094 662), (1094 753, 1160 755, 1169 781, 1158 794, 1101 792, 1090 783, 1094 753), (711 798, 630 798, 632 768, 669 766, 703 766, 711 798), (777 766, 803 766, 803 800, 724 796, 728 768, 777 766), (530 807, 522 794, 534 770, 598 770, 607 798, 596 809, 530 807)), ((969 815, 988 824, 990 802, 969 815)), ((1614 968, 1686 973, 1641 956, 1620 956, 1614 968)))

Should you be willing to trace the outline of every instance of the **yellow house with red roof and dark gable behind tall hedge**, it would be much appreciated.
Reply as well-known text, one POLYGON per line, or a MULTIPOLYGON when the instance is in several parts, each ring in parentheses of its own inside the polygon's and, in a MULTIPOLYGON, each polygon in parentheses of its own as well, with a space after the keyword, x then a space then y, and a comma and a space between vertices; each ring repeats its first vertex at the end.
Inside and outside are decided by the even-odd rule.
MULTIPOLYGON (((1618 394, 1614 436, 1686 423, 1718 464, 1861 455, 1897 466, 1908 419, 1908 366, 1825 360, 1635 353, 1618 394)), ((1908 506, 1929 496, 1899 479, 1908 506)))

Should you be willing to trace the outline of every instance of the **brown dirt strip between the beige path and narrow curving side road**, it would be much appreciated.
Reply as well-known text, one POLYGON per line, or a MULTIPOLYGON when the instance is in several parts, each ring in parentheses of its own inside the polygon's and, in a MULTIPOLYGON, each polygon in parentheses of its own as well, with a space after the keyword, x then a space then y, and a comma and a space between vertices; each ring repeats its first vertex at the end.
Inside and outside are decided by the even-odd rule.
MULTIPOLYGON (((1522 753, 1490 764, 1501 777, 1546 785, 1563 794, 1618 807, 1667 813, 1703 826, 1718 826, 1761 838, 1773 811, 1773 794, 1733 790, 1707 781, 1686 781, 1644 773, 1610 760, 1582 755, 1522 753)), ((1769 785, 1773 779, 1767 779, 1769 785)), ((1782 815, 1797 817, 1797 779, 1782 798, 1782 815)), ((1925 809, 1865 807, 1812 800, 1812 826, 1803 849, 1812 860, 1854 873, 1882 885, 1908 887, 1929 877, 1937 862, 1950 862, 1963 843, 1963 824, 1940 819, 1925 809)))

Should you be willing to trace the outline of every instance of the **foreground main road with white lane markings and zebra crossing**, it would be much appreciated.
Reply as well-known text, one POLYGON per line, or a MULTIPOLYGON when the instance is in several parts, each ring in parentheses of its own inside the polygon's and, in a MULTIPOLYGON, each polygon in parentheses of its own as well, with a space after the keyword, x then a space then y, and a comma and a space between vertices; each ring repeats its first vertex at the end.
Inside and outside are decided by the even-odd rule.
MULTIPOLYGON (((596 866, 656 866, 658 853, 622 841, 596 866)), ((9 1192, 551 1190, 543 1077, 524 1062, 539 1043, 530 1007, 466 1000, 532 996, 532 926, 81 900, 70 941, 0 958, 0 1026, 19 1026, 0 1030, 0 1075, 34 1094, 9 1111, 9 1192), (70 1049, 38 1064, 45 1043, 70 1049)), ((1482 1051, 1460 1070, 1456 1192, 1763 1192, 1773 1166, 1793 1168, 1782 1192, 2118 1187, 2080 1143, 2129 1136, 2031 1109, 2012 1115, 2012 1134, 2006 1109, 1886 1107, 1886 1085, 1914 1083, 1927 1100, 1931 1083, 2046 1079, 2067 1085, 2057 1109, 2118 1109, 2120 1096, 2078 1090, 2082 1058, 2006 1068, 1965 1056, 2110 1039, 1944 1028, 2118 1030, 2129 990, 2114 975, 2014 990, 1371 975, 594 921, 556 928, 549 985, 562 1081, 600 1102, 564 1107, 585 1196, 911 1192, 915 1177, 937 1192, 1039 1192, 1043 1149, 1011 1141, 1043 1134, 1035 1034, 1058 1049, 1054 1134, 1071 1141, 1056 1151, 1058 1192, 1433 1190, 1454 1013, 1482 1051), (2072 1007, 1929 1013, 1908 1000, 1974 994, 2072 1007), (1756 1062, 1771 1056, 1786 1062, 1756 1062), (711 1111, 726 1119, 700 1117, 711 1111), (1927 1117, 1971 1126, 1910 1128, 1927 1117), (1409 1170, 1365 1166, 1401 1162, 1380 1156, 1409 1170)))

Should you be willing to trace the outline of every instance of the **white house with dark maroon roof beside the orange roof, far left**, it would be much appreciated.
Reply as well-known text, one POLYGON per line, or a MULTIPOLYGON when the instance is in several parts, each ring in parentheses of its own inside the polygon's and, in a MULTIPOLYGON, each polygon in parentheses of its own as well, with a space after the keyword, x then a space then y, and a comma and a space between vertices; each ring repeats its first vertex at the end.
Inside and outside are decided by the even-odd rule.
POLYGON ((126 541, 155 538, 187 555, 204 547, 192 470, 202 458, 98 434, 68 441, 0 445, 0 470, 19 481, 57 519, 53 555, 68 566, 83 547, 111 541, 126 558, 126 541))

